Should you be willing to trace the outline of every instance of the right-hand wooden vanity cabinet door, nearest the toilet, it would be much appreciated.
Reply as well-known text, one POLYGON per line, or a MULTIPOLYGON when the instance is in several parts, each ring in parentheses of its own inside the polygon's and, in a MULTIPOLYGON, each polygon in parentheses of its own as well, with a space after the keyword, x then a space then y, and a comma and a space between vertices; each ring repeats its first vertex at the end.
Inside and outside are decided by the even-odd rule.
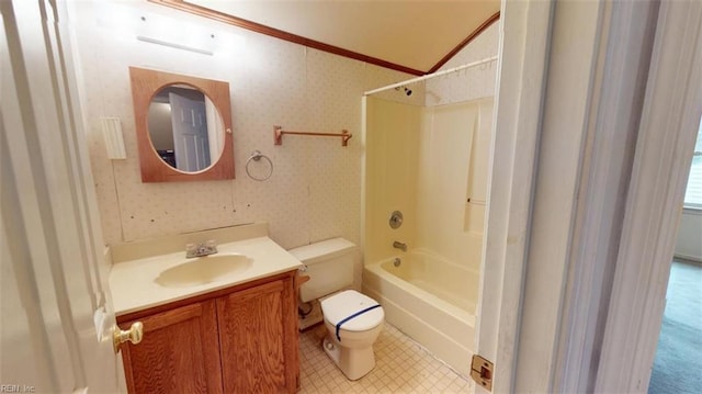
POLYGON ((296 302, 292 278, 217 299, 225 393, 294 393, 296 302))

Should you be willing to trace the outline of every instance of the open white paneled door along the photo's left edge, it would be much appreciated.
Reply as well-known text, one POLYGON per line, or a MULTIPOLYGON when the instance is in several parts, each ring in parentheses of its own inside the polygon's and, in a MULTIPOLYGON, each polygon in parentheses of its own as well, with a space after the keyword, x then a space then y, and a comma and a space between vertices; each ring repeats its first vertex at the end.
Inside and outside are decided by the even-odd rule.
POLYGON ((0 10, 2 391, 114 393, 109 263, 66 4, 0 10))

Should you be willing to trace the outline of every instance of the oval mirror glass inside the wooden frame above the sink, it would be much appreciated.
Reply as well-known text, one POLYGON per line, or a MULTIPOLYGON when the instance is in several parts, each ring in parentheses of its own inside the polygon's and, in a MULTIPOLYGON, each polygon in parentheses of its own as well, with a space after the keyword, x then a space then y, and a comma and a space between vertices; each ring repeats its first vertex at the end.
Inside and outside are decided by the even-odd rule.
POLYGON ((156 154, 167 165, 197 172, 217 162, 224 122, 212 100, 186 85, 169 85, 151 99, 148 131, 156 154))

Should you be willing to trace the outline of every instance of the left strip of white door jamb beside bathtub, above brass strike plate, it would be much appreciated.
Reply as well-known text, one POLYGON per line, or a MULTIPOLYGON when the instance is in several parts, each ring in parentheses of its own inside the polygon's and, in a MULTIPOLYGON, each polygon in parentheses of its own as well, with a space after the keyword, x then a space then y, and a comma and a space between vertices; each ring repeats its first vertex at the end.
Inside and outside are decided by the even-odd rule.
POLYGON ((503 0, 500 10, 475 333, 475 352, 496 365, 496 393, 512 392, 514 384, 552 14, 546 1, 503 0))

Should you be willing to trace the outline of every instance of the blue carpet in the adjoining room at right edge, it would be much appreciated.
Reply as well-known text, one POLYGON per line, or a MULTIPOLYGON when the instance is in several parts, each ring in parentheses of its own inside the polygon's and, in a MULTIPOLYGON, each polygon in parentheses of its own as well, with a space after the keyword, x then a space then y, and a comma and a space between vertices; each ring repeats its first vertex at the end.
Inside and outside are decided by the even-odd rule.
POLYGON ((702 264, 675 260, 648 394, 702 393, 702 264))

